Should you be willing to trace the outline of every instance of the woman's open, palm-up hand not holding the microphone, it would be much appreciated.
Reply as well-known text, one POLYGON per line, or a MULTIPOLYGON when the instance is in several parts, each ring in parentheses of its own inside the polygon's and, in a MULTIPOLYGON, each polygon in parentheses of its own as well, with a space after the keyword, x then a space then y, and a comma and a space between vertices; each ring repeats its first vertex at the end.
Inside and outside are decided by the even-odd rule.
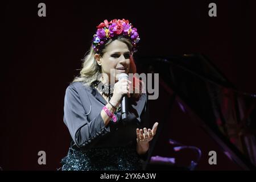
POLYGON ((154 126, 152 127, 152 130, 146 129, 146 127, 144 127, 143 130, 137 129, 137 143, 143 144, 150 142, 156 133, 156 129, 158 129, 158 122, 155 122, 154 126))

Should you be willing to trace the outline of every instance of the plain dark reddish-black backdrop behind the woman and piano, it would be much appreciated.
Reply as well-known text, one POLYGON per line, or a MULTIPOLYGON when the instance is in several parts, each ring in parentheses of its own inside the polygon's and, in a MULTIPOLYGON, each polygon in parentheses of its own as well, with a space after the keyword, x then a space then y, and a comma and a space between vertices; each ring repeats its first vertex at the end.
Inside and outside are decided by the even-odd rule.
MULTIPOLYGON (((138 55, 203 53, 238 90, 256 93, 254 1, 43 1, 45 18, 38 16, 40 2, 11 1, 1 6, 3 170, 60 167, 69 146, 63 123, 65 88, 78 75, 96 26, 104 19, 129 19, 138 28, 138 55), (217 4, 217 17, 208 16, 210 2, 217 4), (41 150, 46 151, 47 164, 40 166, 41 150)), ((158 104, 166 101, 165 94, 168 96, 164 92, 152 102, 152 111, 161 109, 158 104)), ((152 117, 151 123, 155 119, 159 118, 152 117)), ((185 114, 180 112, 180 117, 170 118, 170 122, 172 127, 165 131, 170 137, 204 151, 198 169, 238 169, 221 153, 217 166, 208 164, 207 152, 219 148, 189 124, 185 114)), ((163 153, 166 146, 156 150, 163 153)))

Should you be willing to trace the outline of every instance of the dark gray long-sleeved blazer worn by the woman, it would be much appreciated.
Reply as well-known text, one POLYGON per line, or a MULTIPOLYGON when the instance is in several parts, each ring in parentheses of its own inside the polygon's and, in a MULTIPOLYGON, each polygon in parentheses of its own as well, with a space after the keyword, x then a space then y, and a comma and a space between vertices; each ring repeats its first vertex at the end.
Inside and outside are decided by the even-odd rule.
POLYGON ((107 104, 93 86, 73 82, 68 86, 64 98, 64 123, 73 139, 73 146, 86 150, 91 147, 118 147, 135 145, 136 129, 148 127, 147 94, 139 100, 129 98, 127 121, 122 121, 118 111, 117 122, 111 119, 105 127, 101 110, 107 104))

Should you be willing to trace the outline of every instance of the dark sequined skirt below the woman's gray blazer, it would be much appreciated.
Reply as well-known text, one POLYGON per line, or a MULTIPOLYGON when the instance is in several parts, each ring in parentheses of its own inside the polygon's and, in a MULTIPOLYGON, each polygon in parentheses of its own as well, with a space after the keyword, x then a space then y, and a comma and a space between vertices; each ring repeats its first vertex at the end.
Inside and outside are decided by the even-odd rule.
POLYGON ((81 151, 69 148, 61 160, 63 171, 137 171, 142 170, 142 160, 132 148, 92 148, 81 151))

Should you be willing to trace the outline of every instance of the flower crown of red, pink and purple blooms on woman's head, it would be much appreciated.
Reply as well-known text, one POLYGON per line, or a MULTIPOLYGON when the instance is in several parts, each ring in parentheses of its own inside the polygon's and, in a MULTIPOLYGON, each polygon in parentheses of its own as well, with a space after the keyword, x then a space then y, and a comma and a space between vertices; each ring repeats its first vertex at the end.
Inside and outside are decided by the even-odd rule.
POLYGON ((139 34, 137 28, 133 28, 133 25, 129 23, 129 20, 125 19, 113 19, 110 22, 104 20, 97 26, 98 30, 93 35, 93 49, 96 53, 100 52, 100 49, 104 47, 104 44, 109 39, 113 39, 114 36, 123 35, 131 40, 133 44, 133 51, 137 51, 137 43, 139 42, 139 34))

